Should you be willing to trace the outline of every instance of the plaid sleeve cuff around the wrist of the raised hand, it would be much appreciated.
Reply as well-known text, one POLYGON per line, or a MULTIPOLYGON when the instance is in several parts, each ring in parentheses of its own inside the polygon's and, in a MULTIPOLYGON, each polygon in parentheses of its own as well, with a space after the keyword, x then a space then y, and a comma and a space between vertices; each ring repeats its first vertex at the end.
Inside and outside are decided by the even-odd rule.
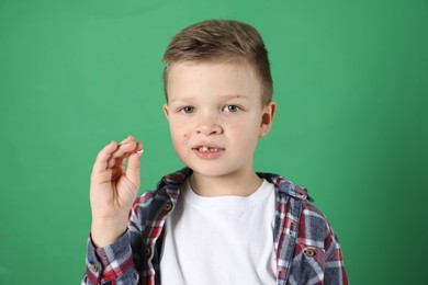
POLYGON ((129 244, 128 232, 104 248, 95 248, 89 237, 87 271, 81 284, 137 284, 129 244))

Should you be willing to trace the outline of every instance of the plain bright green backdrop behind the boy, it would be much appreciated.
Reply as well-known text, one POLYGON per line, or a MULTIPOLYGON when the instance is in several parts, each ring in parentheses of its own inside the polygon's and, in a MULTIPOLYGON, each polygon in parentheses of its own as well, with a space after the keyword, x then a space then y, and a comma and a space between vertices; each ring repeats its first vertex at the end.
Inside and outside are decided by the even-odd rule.
POLYGON ((144 141, 144 190, 181 168, 161 55, 210 18, 251 23, 270 53, 256 169, 309 189, 352 284, 428 284, 426 0, 0 0, 0 284, 80 282, 110 140, 144 141))

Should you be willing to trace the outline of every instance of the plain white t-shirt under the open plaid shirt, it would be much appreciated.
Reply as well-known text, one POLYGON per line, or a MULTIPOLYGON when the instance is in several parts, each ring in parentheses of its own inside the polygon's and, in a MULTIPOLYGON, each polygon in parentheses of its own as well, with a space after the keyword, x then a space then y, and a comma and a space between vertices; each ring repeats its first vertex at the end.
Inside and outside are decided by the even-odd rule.
POLYGON ((275 284, 274 186, 250 196, 203 197, 188 181, 166 221, 162 285, 275 284))

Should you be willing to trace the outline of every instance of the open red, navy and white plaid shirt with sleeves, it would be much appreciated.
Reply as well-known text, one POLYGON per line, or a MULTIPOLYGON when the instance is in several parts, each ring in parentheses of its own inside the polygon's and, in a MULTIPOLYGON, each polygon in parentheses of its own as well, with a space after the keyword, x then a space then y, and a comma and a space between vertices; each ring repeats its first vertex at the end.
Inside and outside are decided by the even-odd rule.
MULTIPOLYGON (((189 168, 166 175, 157 191, 133 206, 128 230, 116 242, 94 248, 88 241, 82 284, 159 285, 164 225, 179 198, 189 168)), ((307 201, 305 189, 277 175, 258 173, 275 187, 277 285, 349 284, 339 242, 326 217, 307 201)))

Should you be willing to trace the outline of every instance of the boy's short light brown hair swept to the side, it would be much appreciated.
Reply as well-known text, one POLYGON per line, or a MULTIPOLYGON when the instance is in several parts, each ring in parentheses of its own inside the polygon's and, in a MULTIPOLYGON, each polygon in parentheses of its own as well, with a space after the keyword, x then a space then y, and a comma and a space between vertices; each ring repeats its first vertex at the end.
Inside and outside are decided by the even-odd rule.
POLYGON ((273 83, 268 50, 259 32, 233 20, 206 20, 181 30, 164 54, 164 88, 168 101, 168 71, 182 61, 248 62, 261 83, 262 103, 272 100, 273 83))

